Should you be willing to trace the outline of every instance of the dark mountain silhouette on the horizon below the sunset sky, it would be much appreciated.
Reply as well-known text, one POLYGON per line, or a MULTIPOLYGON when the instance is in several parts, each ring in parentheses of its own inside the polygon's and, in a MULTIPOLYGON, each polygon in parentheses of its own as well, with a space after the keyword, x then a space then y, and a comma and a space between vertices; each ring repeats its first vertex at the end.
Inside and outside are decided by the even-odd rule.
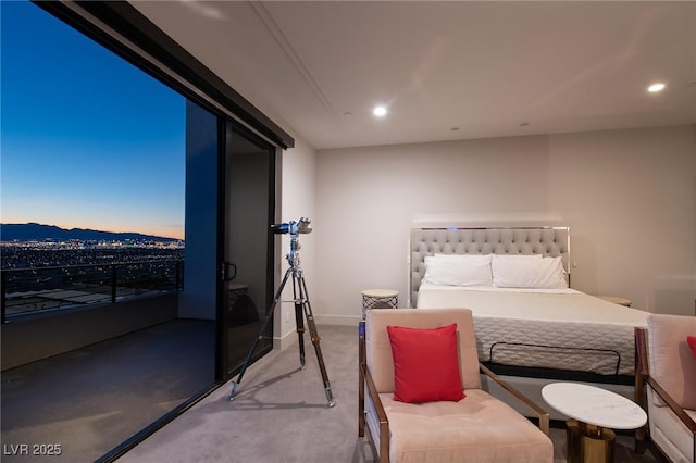
POLYGON ((92 230, 88 228, 61 228, 55 225, 28 224, 0 224, 0 241, 66 241, 78 239, 80 241, 177 241, 175 238, 165 238, 139 233, 113 233, 92 230))

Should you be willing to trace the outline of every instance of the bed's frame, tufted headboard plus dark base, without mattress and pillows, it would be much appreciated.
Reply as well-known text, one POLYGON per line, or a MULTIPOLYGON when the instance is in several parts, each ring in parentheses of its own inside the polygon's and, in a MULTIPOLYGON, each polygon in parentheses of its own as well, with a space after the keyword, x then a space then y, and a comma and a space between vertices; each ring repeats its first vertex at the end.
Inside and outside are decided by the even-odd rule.
MULTIPOLYGON (((480 227, 480 228, 413 228, 410 234, 409 306, 415 306, 421 280, 425 274, 425 258, 435 253, 450 254, 542 254, 561 256, 569 275, 570 228, 569 227, 480 227)), ((637 362, 636 362, 637 365, 637 362)), ((522 390, 540 406, 545 405, 540 389, 559 380, 596 384, 605 389, 636 400, 639 375, 598 375, 564 370, 530 368, 486 363, 486 366, 507 381, 522 390)), ((495 392, 495 386, 492 386, 495 392)), ((502 398, 504 396, 499 396, 502 398)), ((641 403, 641 402, 638 402, 641 403)), ((521 410, 522 412, 522 410, 521 410)), ((551 413, 551 418, 564 417, 551 413)))

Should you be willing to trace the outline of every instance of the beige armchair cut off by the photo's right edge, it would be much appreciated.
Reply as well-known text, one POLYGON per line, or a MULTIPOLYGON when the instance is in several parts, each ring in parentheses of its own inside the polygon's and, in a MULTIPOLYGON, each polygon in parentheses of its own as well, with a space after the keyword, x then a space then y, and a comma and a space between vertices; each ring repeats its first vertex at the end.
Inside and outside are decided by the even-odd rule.
POLYGON ((695 463, 696 359, 687 336, 696 336, 696 317, 649 315, 643 375, 650 439, 672 462, 695 463))

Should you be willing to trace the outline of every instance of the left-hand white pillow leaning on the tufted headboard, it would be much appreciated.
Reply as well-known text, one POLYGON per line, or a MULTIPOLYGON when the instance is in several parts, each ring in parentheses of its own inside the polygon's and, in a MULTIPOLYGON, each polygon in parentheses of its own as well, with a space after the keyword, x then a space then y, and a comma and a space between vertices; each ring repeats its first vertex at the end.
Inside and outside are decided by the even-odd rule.
POLYGON ((423 281, 442 286, 492 286, 492 254, 438 254, 425 258, 423 281))

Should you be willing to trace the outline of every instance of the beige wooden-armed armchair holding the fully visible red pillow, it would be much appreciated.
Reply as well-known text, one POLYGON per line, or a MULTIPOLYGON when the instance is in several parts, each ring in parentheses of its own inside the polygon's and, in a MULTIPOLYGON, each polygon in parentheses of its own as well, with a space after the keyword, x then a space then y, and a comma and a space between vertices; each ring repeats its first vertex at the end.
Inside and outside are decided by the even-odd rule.
POLYGON ((372 310, 361 324, 360 338, 359 435, 366 429, 378 462, 554 461, 548 413, 478 363, 470 310, 372 310), (451 323, 457 324, 453 358, 459 359, 465 398, 424 403, 395 400, 387 326, 428 329, 451 323), (480 373, 490 375, 526 403, 539 426, 482 390, 480 373))

